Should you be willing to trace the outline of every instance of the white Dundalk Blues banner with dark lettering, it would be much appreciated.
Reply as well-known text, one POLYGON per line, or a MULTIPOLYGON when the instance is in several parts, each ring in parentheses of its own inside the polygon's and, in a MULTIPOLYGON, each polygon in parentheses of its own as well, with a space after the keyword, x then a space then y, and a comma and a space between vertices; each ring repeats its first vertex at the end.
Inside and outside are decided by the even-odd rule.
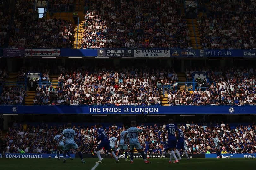
POLYGON ((167 49, 149 49, 133 50, 134 57, 170 57, 170 50, 167 49))

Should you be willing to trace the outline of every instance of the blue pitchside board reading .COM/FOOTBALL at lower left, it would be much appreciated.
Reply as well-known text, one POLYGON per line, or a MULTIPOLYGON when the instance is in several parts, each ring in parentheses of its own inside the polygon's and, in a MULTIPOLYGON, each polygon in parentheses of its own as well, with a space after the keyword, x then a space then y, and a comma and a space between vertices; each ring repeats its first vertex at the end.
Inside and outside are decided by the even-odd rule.
MULTIPOLYGON (((70 154, 72 158, 75 158, 75 154, 70 154)), ((63 158, 63 154, 59 154, 60 158, 63 158)), ((0 154, 0 158, 2 155, 0 154)), ((58 158, 57 154, 5 154, 5 158, 58 158)), ((68 155, 66 158, 69 158, 68 155)))

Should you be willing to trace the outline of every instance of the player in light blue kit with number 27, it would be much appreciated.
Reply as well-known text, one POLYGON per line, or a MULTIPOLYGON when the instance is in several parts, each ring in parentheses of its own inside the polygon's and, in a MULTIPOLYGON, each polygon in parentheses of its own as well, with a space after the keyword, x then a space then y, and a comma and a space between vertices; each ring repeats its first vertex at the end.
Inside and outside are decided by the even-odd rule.
POLYGON ((83 156, 82 153, 80 151, 80 148, 77 146, 76 142, 74 141, 74 138, 76 137, 76 132, 71 129, 71 123, 67 124, 67 129, 64 129, 62 134, 59 137, 57 146, 59 145, 60 141, 62 140, 62 137, 64 136, 66 141, 65 141, 65 145, 64 145, 64 151, 63 151, 63 163, 66 162, 66 153, 69 149, 75 149, 78 152, 79 157, 81 158, 82 163, 85 163, 85 161, 83 161, 83 156))

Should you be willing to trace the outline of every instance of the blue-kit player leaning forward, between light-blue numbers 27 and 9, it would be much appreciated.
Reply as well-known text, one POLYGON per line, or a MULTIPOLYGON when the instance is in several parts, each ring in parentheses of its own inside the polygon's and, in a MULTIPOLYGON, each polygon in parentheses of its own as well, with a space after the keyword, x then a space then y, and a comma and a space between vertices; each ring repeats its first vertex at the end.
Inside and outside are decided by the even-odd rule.
POLYGON ((116 163, 119 163, 119 160, 116 157, 116 154, 112 151, 110 144, 109 144, 109 140, 108 140, 108 135, 105 132, 105 130, 103 128, 99 128, 98 132, 98 140, 96 143, 98 143, 101 140, 101 143, 97 146, 96 148, 96 154, 99 158, 99 161, 96 163, 102 163, 102 159, 101 159, 101 154, 100 154, 100 150, 101 148, 105 148, 105 150, 107 150, 109 153, 112 154, 112 156, 115 158, 116 163))

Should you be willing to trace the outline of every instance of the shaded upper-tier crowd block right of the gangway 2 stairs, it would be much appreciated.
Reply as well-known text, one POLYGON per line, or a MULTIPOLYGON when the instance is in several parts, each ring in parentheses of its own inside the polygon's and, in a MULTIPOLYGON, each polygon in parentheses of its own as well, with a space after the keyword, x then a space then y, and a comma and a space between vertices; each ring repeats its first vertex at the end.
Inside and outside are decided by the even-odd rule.
POLYGON ((255 49, 255 1, 211 0, 210 12, 198 18, 203 48, 255 49))

